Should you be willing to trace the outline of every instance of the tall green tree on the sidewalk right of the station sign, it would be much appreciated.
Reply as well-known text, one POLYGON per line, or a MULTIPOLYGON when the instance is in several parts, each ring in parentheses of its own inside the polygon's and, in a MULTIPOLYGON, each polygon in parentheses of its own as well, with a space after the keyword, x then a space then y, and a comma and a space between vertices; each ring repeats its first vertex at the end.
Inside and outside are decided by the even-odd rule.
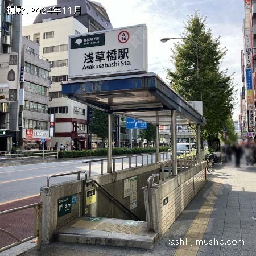
POLYGON ((207 125, 201 127, 202 139, 217 138, 224 129, 225 120, 234 108, 234 85, 228 70, 220 64, 226 54, 220 38, 214 38, 207 28, 206 18, 198 11, 184 23, 184 38, 196 42, 199 53, 199 77, 196 75, 196 46, 190 40, 174 44, 172 61, 174 71, 167 70, 172 88, 187 101, 203 101, 203 115, 207 125))

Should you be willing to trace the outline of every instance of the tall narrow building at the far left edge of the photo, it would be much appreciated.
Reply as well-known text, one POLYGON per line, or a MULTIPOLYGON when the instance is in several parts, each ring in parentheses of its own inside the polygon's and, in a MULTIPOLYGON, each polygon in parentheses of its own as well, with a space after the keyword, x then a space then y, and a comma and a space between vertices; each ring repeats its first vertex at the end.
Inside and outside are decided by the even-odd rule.
POLYGON ((22 0, 0 0, 0 150, 19 146, 19 76, 22 15, 11 15, 11 4, 22 0))

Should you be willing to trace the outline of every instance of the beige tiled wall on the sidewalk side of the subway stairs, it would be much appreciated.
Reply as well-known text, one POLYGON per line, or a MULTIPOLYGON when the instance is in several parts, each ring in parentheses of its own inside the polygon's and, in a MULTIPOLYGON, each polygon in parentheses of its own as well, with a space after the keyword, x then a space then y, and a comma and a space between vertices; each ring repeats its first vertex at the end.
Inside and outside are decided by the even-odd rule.
POLYGON ((166 233, 180 213, 203 187, 206 181, 205 166, 206 163, 202 163, 191 170, 179 173, 176 177, 160 182, 158 187, 150 189, 150 193, 148 193, 147 187, 143 188, 148 229, 151 228, 150 218, 152 218, 151 229, 158 232, 160 237, 166 233), (151 195, 148 197, 148 194, 151 195), (168 203, 163 205, 164 199, 167 199, 167 197, 168 203), (151 205, 153 205, 152 216, 150 216, 148 200, 151 200, 151 205))

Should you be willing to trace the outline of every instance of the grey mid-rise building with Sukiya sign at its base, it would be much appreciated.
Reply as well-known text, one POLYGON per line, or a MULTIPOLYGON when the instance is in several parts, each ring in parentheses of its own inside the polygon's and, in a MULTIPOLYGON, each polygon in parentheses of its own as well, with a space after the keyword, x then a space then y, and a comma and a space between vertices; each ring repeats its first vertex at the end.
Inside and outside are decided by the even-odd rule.
POLYGON ((23 149, 38 149, 41 139, 46 139, 45 146, 50 148, 49 134, 49 71, 48 59, 39 55, 39 44, 22 38, 20 77, 19 127, 23 149), (22 122, 21 122, 22 121, 22 122))

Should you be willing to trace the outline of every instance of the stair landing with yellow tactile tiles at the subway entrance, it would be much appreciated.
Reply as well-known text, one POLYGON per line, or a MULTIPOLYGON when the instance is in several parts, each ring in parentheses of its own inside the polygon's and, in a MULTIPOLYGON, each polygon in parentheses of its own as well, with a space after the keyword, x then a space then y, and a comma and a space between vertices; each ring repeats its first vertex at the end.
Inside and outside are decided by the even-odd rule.
POLYGON ((78 218, 57 230, 57 241, 153 249, 158 233, 148 232, 147 222, 114 218, 78 218))

